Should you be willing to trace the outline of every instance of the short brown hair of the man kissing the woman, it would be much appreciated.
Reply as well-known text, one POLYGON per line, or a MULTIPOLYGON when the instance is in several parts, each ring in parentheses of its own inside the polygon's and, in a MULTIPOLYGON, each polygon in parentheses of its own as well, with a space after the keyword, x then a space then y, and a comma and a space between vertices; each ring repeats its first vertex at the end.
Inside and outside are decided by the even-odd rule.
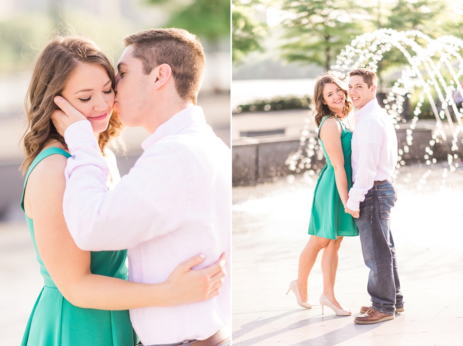
POLYGON ((124 44, 133 45, 133 56, 143 62, 145 74, 169 65, 179 96, 196 104, 204 71, 204 50, 197 36, 184 29, 149 29, 124 37, 124 44))

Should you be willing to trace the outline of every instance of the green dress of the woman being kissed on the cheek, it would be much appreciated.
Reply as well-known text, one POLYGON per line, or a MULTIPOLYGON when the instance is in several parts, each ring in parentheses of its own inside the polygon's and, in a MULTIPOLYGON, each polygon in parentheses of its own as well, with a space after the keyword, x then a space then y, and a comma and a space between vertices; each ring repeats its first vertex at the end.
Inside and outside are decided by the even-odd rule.
MULTIPOLYGON (((30 172, 41 160, 54 154, 70 157, 69 153, 60 148, 47 148, 35 158, 24 182, 21 199, 23 211, 24 191, 30 172)), ((21 346, 133 346, 137 341, 128 310, 83 309, 63 297, 40 258, 35 244, 33 221, 27 215, 26 222, 40 264, 44 287, 32 309, 21 346)), ((127 250, 92 252, 90 270, 93 274, 127 280, 126 258, 127 250)))

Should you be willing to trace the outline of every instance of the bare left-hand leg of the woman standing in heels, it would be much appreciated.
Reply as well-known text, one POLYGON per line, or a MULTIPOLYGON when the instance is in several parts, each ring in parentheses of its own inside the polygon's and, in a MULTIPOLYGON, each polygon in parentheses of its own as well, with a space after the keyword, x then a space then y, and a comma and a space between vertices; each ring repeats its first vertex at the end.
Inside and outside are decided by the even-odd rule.
POLYGON ((317 259, 318 253, 328 245, 330 239, 310 236, 309 241, 299 256, 299 267, 297 271, 297 288, 302 301, 307 301, 307 281, 312 267, 317 259))

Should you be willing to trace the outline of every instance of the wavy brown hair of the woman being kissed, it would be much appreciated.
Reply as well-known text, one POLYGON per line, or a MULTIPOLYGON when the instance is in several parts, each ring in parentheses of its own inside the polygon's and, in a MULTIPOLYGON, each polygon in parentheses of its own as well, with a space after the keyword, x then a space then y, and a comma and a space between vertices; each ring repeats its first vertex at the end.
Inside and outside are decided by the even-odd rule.
MULTIPOLYGON (((35 60, 26 94, 27 131, 23 137, 26 153, 21 165, 23 175, 35 157, 51 141, 56 140, 67 148, 64 138, 51 121, 51 114, 58 108, 53 99, 56 95, 61 95, 69 76, 80 63, 104 68, 114 90, 114 67, 95 43, 79 36, 59 36, 50 41, 35 60)), ((110 139, 117 137, 121 130, 122 124, 113 111, 108 128, 98 137, 100 149, 103 151, 110 139)))

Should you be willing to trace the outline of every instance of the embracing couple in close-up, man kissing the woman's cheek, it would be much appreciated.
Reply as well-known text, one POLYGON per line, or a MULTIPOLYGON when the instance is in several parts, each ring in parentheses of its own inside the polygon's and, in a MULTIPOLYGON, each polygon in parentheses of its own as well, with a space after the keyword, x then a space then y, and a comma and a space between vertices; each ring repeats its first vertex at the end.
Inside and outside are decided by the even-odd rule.
POLYGON ((117 74, 83 37, 36 59, 21 207, 44 287, 22 345, 229 345, 231 155, 196 106, 203 47, 175 28, 124 43, 117 74), (150 135, 120 178, 123 125, 150 135))

